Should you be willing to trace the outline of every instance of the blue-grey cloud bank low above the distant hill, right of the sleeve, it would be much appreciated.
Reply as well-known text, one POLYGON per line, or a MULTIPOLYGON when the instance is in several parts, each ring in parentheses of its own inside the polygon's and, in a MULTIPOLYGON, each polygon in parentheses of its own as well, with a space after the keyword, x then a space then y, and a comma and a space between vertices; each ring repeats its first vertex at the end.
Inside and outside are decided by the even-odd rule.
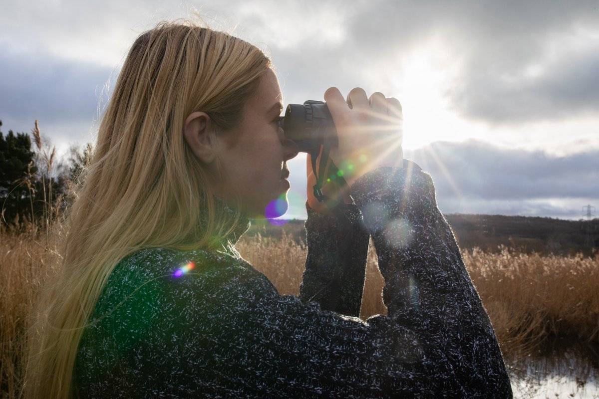
POLYGON ((447 212, 576 216, 599 196, 597 150, 557 157, 480 141, 435 142, 406 158, 431 173, 447 212))

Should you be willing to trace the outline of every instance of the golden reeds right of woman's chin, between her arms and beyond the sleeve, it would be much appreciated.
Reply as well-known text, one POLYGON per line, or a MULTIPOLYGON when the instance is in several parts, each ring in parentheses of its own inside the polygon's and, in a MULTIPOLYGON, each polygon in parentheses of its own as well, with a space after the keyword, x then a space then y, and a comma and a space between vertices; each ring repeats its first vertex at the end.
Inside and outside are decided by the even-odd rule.
MULTIPOLYGON (((241 239, 244 258, 271 279, 280 294, 298 294, 306 249, 289 237, 267 241, 241 239)), ((470 277, 485 304, 506 355, 531 354, 552 336, 599 341, 599 254, 541 256, 505 246, 489 254, 462 251, 470 277)), ((374 246, 368 266, 360 317, 386 314, 374 246)))

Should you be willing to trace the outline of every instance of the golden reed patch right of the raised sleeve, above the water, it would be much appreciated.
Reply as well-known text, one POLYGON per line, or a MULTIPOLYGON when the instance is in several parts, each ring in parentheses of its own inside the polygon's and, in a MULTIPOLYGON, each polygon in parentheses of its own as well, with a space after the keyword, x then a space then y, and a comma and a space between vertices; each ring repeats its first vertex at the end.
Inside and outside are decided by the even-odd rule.
POLYGON ((550 336, 599 342, 599 254, 462 256, 504 352, 530 354, 550 336))

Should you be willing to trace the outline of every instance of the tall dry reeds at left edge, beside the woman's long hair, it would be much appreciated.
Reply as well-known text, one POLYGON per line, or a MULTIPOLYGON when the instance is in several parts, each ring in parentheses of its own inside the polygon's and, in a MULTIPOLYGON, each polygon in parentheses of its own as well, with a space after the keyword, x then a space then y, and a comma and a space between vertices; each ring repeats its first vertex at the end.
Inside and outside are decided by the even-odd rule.
MULTIPOLYGON (((43 141, 38 121, 31 131, 35 142, 35 160, 19 182, 30 194, 30 215, 19 215, 11 223, 0 222, 0 397, 18 397, 23 373, 25 331, 29 324, 37 288, 56 272, 59 256, 56 240, 66 193, 55 193, 58 173, 56 147, 43 141), (35 168, 34 168, 35 166, 35 168), (36 170, 36 172, 32 172, 36 170), (41 195, 38 196, 38 192, 41 195), (35 215, 34 200, 42 205, 35 215)), ((34 150, 35 150, 34 149, 34 150)), ((73 182, 66 182, 71 187, 73 182)), ((2 209, 0 209, 0 214, 2 209)), ((6 222, 6 221, 2 221, 6 222)))

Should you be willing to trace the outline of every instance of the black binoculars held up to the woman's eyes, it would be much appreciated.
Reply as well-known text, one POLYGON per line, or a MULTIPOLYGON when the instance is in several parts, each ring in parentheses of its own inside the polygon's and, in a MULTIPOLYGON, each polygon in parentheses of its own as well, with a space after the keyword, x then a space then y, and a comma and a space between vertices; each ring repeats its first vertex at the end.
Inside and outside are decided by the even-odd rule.
POLYGON ((289 104, 279 124, 285 137, 294 141, 301 153, 316 157, 325 142, 337 145, 337 130, 325 102, 307 100, 303 105, 289 104))

